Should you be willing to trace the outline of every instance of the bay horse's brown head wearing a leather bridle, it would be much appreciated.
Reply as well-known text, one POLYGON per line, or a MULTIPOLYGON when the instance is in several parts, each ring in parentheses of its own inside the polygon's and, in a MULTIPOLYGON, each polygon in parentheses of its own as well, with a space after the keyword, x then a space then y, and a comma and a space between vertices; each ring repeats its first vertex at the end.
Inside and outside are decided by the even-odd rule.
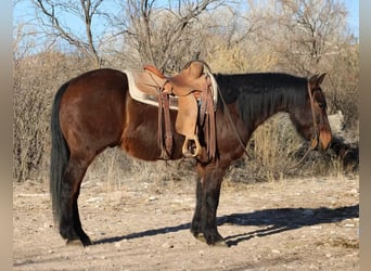
POLYGON ((320 85, 325 74, 315 75, 308 79, 307 100, 303 108, 291 112, 291 119, 297 131, 306 140, 311 141, 314 149, 325 151, 332 140, 331 128, 327 115, 327 102, 320 85))

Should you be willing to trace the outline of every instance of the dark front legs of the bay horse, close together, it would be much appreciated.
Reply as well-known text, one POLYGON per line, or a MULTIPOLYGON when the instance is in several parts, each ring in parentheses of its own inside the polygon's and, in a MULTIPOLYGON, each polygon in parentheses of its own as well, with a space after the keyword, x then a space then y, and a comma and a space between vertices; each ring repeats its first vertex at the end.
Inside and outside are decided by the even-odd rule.
POLYGON ((191 232, 208 245, 226 245, 217 229, 217 208, 220 186, 225 170, 202 168, 199 166, 196 184, 196 207, 192 220, 191 232))

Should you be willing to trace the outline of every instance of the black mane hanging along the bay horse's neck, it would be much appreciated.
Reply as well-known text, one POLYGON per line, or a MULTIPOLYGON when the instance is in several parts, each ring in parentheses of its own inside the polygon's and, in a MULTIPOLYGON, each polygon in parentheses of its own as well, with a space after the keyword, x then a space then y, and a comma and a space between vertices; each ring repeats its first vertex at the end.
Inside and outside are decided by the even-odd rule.
POLYGON ((245 124, 293 106, 303 108, 307 99, 307 79, 287 74, 216 74, 215 79, 226 103, 238 104, 245 124))

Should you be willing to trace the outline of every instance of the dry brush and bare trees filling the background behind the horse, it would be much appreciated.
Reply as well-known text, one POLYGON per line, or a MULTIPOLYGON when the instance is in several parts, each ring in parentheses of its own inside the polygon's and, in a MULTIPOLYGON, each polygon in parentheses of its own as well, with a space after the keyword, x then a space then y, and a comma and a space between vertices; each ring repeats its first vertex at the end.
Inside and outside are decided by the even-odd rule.
MULTIPOLYGON (((155 1, 126 1, 112 14, 104 0, 81 1, 85 5, 79 1, 30 2, 40 21, 35 21, 36 26, 20 23, 14 30, 14 181, 48 181, 51 104, 63 82, 95 67, 125 69, 152 63, 171 73, 195 55, 214 73, 309 76, 325 72, 329 114, 342 111, 345 117, 343 133, 336 134, 332 150, 310 153, 291 170, 307 145, 286 116, 277 115, 258 128, 247 145, 252 159, 234 164, 228 180, 329 176, 357 169, 359 47, 346 28, 346 11, 338 1, 267 1, 264 7, 248 1, 247 10, 228 1, 179 1, 180 7, 166 8, 156 7, 155 1), (81 36, 68 33, 71 28, 59 17, 74 11, 86 22, 81 36), (104 22, 104 31, 94 30, 97 20, 104 22), (41 36, 35 35, 38 29, 41 36), (46 41, 43 46, 38 39, 46 41)), ((192 163, 148 164, 110 150, 89 168, 85 182, 107 181, 115 189, 132 172, 162 183, 193 179, 192 163), (167 167, 166 175, 158 173, 165 171, 158 170, 163 167, 167 167)))

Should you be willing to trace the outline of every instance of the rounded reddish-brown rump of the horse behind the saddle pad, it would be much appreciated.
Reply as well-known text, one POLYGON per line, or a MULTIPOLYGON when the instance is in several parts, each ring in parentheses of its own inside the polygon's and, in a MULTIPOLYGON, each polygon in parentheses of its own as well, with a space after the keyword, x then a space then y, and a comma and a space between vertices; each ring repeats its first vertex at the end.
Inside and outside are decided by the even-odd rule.
POLYGON ((69 81, 60 125, 72 153, 94 155, 119 143, 127 90, 126 75, 115 69, 91 70, 69 81))

